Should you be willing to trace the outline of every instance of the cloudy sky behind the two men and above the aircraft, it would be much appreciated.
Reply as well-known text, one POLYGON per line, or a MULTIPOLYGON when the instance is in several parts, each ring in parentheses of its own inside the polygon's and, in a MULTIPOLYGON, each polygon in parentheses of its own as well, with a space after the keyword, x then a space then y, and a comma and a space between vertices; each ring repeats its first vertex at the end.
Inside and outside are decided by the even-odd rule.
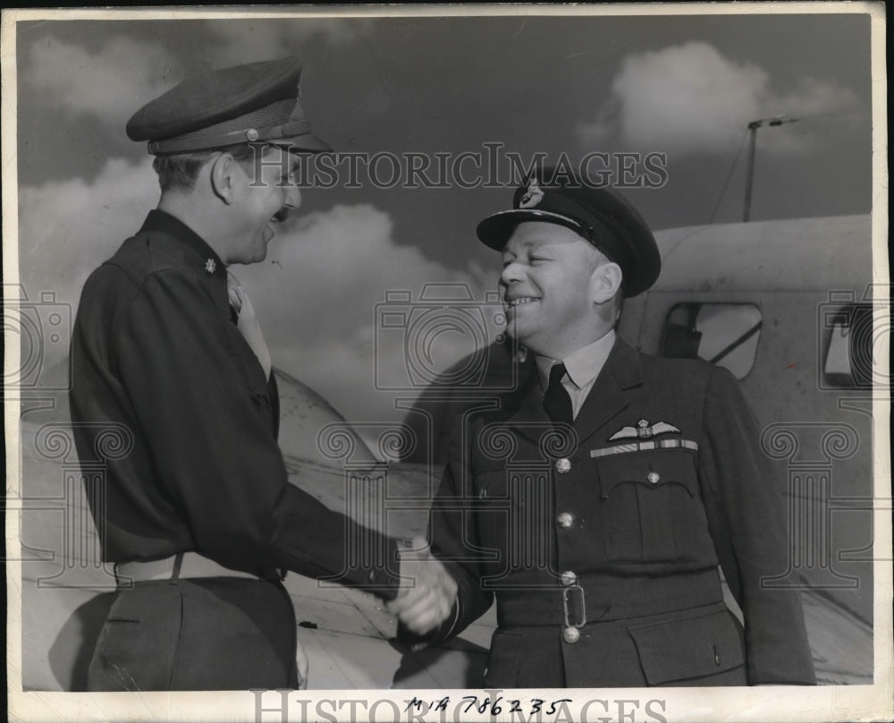
MULTIPOLYGON (((110 16, 111 17, 111 16, 110 16)), ((334 149, 457 157, 486 144, 530 158, 666 154, 666 183, 627 191, 655 229, 738 221, 746 125, 753 219, 871 208, 870 23, 860 14, 208 19, 21 22, 21 283, 76 305, 89 271, 134 233, 158 191, 130 115, 207 68, 300 55, 302 103, 334 149)), ((387 174, 385 174, 387 176, 387 174)), ((264 264, 234 268, 274 363, 351 419, 392 416, 375 392, 376 305, 426 283, 495 286, 475 225, 499 188, 308 189, 264 264)), ((445 366, 468 345, 439 348, 445 366)), ((390 369, 402 349, 378 362, 390 369)))

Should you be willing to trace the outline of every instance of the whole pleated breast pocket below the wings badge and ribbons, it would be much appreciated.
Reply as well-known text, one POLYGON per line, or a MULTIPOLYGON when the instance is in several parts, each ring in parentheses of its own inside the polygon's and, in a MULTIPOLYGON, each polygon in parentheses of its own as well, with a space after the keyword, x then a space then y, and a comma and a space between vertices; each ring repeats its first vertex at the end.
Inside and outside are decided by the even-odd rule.
POLYGON ((698 557, 707 523, 693 453, 629 452, 605 455, 594 463, 609 559, 661 562, 698 557))

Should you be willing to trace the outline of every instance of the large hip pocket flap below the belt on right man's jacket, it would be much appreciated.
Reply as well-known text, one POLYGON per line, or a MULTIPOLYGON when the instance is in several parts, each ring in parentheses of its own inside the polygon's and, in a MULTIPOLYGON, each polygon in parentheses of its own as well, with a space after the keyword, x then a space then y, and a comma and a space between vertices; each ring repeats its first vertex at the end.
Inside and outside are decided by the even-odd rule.
POLYGON ((628 628, 649 685, 711 676, 745 663, 742 638, 726 610, 628 628))

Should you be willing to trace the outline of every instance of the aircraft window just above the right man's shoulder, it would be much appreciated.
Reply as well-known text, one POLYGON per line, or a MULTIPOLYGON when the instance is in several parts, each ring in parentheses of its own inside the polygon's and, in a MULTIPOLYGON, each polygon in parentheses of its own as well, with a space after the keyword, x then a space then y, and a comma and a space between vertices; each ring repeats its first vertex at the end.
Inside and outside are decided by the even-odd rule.
POLYGON ((744 379, 755 365, 762 323, 751 303, 679 303, 664 322, 662 356, 704 359, 744 379))

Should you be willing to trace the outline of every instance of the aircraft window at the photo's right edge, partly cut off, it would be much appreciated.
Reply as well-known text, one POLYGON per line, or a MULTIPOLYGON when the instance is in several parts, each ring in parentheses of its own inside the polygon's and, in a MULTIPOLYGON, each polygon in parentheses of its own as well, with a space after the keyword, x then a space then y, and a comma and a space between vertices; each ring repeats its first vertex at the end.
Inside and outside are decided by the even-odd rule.
POLYGON ((829 345, 822 364, 825 387, 868 388, 873 386, 873 307, 850 304, 827 314, 831 327, 829 345))

